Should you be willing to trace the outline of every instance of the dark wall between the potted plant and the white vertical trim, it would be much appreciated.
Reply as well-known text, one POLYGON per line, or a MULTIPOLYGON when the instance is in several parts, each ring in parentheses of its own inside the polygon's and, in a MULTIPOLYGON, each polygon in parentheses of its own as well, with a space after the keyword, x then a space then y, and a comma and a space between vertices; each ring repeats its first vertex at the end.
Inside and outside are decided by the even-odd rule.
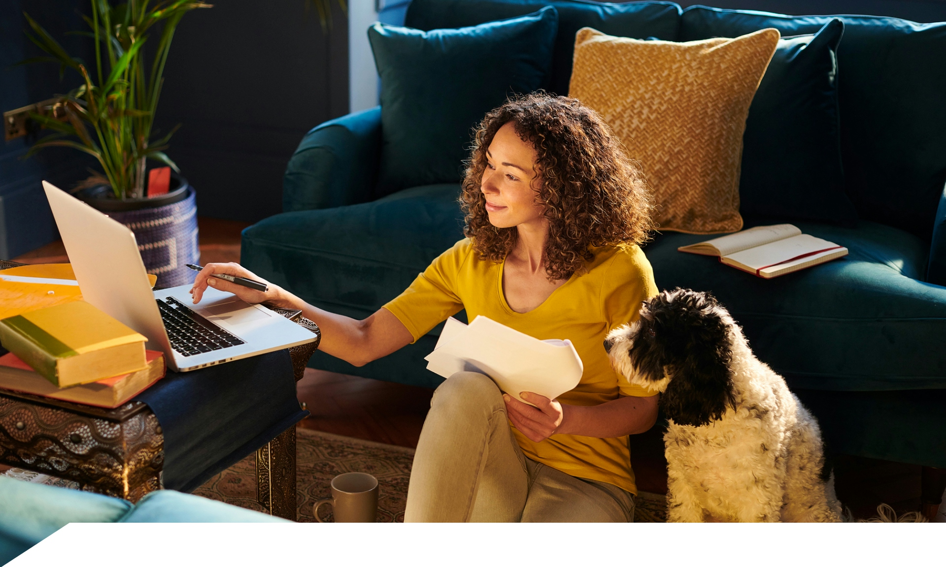
POLYGON ((331 34, 305 0, 223 0, 187 14, 167 60, 157 121, 182 123, 168 155, 200 215, 282 211, 283 172, 309 129, 348 112, 348 24, 331 34))

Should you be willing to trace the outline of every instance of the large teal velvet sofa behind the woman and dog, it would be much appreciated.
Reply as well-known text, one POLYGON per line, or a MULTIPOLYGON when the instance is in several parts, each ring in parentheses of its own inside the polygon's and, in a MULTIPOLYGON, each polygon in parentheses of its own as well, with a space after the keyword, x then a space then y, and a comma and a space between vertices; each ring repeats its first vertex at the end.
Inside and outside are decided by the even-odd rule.
MULTIPOLYGON (((559 94, 568 92, 571 44, 582 26, 690 41, 764 27, 783 37, 813 34, 834 19, 667 2, 413 0, 404 25, 474 26, 547 5, 559 18, 549 84, 559 94)), ((644 251, 660 288, 710 291, 727 306, 759 358, 815 411, 833 452, 946 467, 946 24, 837 19, 844 23, 836 51, 839 190, 852 213, 835 221, 748 211, 744 218, 746 228, 792 222, 850 255, 762 280, 676 250, 707 236, 658 233, 644 251)), ((394 298, 463 235, 459 179, 379 190, 381 114, 357 112, 309 131, 289 160, 284 213, 243 232, 244 265, 355 318, 394 298)), ((805 180, 825 191, 828 183, 805 180)), ((438 333, 364 367, 322 352, 309 366, 435 387, 441 378, 423 357, 438 333)))

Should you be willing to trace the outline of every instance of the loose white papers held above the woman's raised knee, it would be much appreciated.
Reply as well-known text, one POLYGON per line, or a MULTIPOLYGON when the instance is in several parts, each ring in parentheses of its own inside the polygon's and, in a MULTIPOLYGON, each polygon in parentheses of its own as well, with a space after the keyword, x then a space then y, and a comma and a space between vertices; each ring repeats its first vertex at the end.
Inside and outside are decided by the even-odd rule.
POLYGON ((445 378, 464 370, 482 372, 520 402, 525 402, 521 392, 554 400, 578 386, 585 371, 569 339, 539 340, 482 316, 469 325, 448 318, 425 360, 427 369, 445 378))

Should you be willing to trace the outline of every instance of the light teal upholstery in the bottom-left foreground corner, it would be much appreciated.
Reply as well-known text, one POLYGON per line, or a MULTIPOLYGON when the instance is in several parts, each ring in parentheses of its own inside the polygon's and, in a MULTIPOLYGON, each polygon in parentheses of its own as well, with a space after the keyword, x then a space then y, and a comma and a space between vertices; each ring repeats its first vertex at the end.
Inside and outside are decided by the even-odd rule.
POLYGON ((82 490, 62 489, 0 475, 0 565, 65 524, 152 522, 289 522, 267 514, 174 490, 156 490, 137 504, 82 490))

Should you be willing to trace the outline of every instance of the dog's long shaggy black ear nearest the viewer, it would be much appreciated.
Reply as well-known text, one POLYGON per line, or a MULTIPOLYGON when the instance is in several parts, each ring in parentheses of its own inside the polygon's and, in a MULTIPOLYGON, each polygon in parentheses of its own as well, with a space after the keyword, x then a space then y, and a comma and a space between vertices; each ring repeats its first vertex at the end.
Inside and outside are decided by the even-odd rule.
POLYGON ((706 425, 735 406, 731 318, 709 294, 674 290, 667 296, 655 313, 671 378, 660 404, 675 423, 706 425))

